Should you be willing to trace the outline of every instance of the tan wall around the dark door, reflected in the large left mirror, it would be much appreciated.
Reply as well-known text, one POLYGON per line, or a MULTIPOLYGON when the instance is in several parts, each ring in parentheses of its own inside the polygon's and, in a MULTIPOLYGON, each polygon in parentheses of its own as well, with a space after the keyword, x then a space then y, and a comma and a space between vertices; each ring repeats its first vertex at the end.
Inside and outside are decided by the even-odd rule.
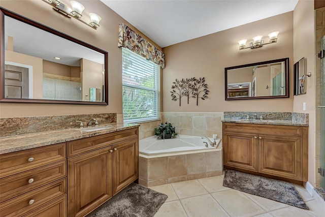
MULTIPOLYGON (((43 59, 5 50, 5 61, 32 66, 32 97, 34 99, 43 98, 43 59), (38 85, 37 85, 38 84, 38 85)), ((3 115, 2 108, 4 104, 0 104, 0 117, 3 115)))

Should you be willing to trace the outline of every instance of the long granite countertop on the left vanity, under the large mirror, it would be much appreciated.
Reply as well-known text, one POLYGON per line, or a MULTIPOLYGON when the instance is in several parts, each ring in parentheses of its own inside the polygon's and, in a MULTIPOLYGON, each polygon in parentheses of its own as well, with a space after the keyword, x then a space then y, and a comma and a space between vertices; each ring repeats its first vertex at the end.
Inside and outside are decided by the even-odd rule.
POLYGON ((133 129, 136 127, 139 127, 139 125, 134 125, 131 123, 117 125, 116 123, 111 123, 109 125, 100 125, 98 127, 91 128, 71 128, 64 130, 53 130, 47 132, 22 134, 17 136, 5 136, 0 137, 0 154, 42 147, 46 145, 52 145, 60 142, 67 142, 96 135, 114 133, 117 131, 133 129), (86 132, 87 130, 101 128, 106 129, 86 132))

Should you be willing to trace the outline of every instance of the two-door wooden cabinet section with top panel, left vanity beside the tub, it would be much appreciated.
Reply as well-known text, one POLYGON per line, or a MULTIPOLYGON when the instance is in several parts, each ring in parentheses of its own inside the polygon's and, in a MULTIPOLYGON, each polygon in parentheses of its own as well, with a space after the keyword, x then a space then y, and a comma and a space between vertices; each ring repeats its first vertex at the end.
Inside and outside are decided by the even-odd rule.
POLYGON ((138 128, 68 142, 69 216, 84 216, 135 181, 138 128))

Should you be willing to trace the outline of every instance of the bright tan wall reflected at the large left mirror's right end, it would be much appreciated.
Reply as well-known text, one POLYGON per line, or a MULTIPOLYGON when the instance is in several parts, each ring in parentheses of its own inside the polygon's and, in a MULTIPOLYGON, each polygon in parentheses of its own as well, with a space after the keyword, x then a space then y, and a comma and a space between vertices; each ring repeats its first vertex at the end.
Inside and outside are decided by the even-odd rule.
POLYGON ((81 59, 82 100, 89 101, 89 88, 101 89, 103 99, 103 66, 88 59, 81 59), (87 96, 86 96, 87 95, 87 96))

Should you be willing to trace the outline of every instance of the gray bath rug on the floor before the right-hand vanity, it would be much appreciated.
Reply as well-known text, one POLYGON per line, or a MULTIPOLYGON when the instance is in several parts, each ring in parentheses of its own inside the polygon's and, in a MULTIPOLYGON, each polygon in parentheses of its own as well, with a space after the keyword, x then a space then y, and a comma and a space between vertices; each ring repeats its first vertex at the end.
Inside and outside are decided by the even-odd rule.
POLYGON ((226 170, 222 185, 298 208, 309 209, 295 189, 295 186, 289 182, 251 175, 235 170, 226 170))

